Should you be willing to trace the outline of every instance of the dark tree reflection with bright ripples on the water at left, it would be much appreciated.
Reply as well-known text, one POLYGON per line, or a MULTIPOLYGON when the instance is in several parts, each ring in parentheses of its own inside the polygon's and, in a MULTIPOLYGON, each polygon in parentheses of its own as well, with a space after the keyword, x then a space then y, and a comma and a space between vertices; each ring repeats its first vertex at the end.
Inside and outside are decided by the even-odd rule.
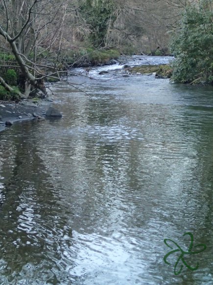
MULTIPOLYGON (((58 189, 37 155, 30 125, 19 125, 1 153, 0 276, 2 284, 60 281, 55 271, 65 270, 63 251, 71 246, 68 217, 58 204, 58 189), (63 213, 63 214, 62 214, 63 213), (63 248, 63 250, 62 250, 63 248)), ((71 266, 70 262, 70 266, 71 266)), ((62 277, 62 281, 66 277, 62 277)))

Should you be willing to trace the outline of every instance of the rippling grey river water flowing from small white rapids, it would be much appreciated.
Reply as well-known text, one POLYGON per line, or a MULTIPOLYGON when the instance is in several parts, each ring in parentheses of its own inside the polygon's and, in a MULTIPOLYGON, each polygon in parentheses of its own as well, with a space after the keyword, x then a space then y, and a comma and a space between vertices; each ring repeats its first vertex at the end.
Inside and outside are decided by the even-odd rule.
POLYGON ((0 133, 0 284, 213 284, 213 88, 121 67, 69 78, 92 99, 52 85, 61 119, 0 133), (207 248, 175 275, 164 239, 188 252, 185 232, 207 248))

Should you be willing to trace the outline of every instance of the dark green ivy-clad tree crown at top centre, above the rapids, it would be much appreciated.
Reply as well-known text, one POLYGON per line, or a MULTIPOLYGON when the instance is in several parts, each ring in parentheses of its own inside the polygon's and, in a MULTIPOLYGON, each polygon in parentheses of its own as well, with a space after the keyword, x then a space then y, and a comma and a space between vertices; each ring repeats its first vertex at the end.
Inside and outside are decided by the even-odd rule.
POLYGON ((110 22, 116 20, 113 0, 85 0, 80 13, 91 29, 89 40, 95 47, 104 46, 104 38, 110 22))

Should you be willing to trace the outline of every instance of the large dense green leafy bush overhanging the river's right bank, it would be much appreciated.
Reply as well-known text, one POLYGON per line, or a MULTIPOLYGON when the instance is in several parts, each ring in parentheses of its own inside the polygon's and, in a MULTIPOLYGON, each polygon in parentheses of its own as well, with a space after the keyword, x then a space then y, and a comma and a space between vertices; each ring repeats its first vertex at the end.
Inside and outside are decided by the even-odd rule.
POLYGON ((212 1, 187 7, 171 41, 171 80, 180 83, 213 84, 213 9, 212 1))

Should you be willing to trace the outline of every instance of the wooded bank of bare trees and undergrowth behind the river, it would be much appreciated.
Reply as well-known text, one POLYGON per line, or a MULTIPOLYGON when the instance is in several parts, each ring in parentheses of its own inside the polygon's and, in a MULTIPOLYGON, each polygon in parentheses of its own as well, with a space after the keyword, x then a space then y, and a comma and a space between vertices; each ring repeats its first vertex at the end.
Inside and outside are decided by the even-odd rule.
POLYGON ((0 94, 27 98, 39 91, 45 96, 47 78, 56 80, 73 66, 104 63, 120 54, 183 55, 180 41, 190 36, 200 19, 196 9, 202 7, 205 17, 211 13, 200 20, 199 27, 207 25, 200 35, 209 33, 211 45, 212 0, 0 0, 0 94), (188 7, 197 8, 189 15, 188 7), (191 27, 189 21, 184 24, 178 41, 183 13, 188 20, 196 17, 191 27))

